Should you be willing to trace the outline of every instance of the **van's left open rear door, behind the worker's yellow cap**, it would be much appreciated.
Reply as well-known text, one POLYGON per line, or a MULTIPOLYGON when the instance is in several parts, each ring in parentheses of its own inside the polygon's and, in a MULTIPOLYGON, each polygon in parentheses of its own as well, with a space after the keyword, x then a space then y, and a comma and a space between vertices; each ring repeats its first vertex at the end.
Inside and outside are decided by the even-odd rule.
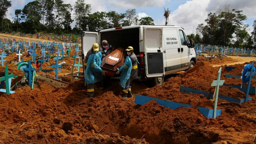
POLYGON ((92 44, 93 43, 98 43, 98 36, 99 36, 98 32, 83 31, 83 33, 82 33, 82 60, 83 60, 83 67, 84 67, 84 58, 85 58, 87 52, 92 48, 92 44))

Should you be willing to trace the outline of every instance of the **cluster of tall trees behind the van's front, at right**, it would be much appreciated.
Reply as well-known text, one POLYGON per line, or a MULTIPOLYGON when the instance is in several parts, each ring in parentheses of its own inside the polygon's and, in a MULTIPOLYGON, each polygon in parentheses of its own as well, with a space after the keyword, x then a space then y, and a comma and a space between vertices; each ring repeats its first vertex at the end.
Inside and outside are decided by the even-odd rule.
POLYGON ((242 10, 230 9, 226 6, 215 13, 209 13, 205 19, 206 25, 199 24, 196 35, 190 34, 187 37, 193 39, 195 43, 255 48, 256 20, 250 35, 247 31, 249 25, 243 23, 246 19, 247 16, 242 14, 242 10))

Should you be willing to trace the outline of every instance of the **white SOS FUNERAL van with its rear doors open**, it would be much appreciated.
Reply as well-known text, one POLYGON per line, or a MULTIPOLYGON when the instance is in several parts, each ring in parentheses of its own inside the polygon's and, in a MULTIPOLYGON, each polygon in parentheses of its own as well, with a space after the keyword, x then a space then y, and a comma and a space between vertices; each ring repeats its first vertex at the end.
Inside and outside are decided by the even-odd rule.
POLYGON ((127 26, 82 32, 82 58, 92 43, 107 40, 113 47, 132 46, 138 58, 138 78, 162 85, 164 76, 187 70, 196 64, 194 42, 177 26, 127 26))

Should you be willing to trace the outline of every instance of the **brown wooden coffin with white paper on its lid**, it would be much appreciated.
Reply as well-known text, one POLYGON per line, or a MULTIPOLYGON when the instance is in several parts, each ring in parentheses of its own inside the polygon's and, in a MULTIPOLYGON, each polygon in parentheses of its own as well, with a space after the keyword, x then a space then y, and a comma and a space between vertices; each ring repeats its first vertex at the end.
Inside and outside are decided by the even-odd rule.
POLYGON ((102 59, 101 68, 107 71, 106 76, 113 77, 117 68, 124 64, 125 51, 123 48, 117 48, 102 59))

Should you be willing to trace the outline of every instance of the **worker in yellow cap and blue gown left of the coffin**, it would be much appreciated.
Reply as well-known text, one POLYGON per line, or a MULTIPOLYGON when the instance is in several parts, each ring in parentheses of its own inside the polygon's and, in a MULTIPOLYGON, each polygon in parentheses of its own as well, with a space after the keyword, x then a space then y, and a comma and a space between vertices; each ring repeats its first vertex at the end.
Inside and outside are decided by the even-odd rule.
POLYGON ((87 60, 87 66, 85 69, 85 81, 87 83, 87 94, 89 97, 94 96, 94 83, 103 79, 102 75, 105 75, 106 71, 103 71, 101 65, 101 52, 99 52, 99 44, 93 43, 93 53, 87 60))

